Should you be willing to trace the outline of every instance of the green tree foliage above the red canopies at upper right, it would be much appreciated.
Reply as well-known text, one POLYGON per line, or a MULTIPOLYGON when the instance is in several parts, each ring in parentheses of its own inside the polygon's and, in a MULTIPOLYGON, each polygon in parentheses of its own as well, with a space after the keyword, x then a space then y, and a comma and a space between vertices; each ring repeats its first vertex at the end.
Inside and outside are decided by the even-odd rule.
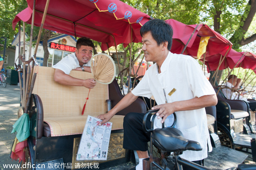
POLYGON ((122 1, 154 18, 172 18, 188 25, 203 22, 230 38, 236 50, 256 40, 256 31, 251 26, 255 18, 256 0, 122 1))

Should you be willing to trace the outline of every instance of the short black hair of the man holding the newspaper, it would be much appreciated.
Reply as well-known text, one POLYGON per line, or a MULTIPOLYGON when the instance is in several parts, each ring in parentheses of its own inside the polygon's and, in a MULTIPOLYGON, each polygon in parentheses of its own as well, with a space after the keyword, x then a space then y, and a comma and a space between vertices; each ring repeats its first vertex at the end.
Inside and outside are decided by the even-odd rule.
POLYGON ((167 24, 162 19, 152 19, 146 22, 140 28, 140 35, 141 37, 145 34, 150 32, 154 40, 156 40, 157 45, 160 46, 161 43, 167 41, 168 42, 168 50, 171 50, 172 47, 172 26, 167 24))

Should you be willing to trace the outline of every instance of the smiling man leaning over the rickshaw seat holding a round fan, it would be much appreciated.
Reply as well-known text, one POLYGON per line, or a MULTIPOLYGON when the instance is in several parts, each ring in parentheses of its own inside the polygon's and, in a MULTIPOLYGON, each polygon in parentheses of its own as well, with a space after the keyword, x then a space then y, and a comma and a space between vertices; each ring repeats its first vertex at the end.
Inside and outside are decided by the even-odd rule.
POLYGON ((91 72, 90 66, 93 48, 94 44, 92 40, 85 37, 79 38, 76 42, 75 53, 68 54, 52 66, 55 69, 54 80, 63 85, 93 88, 96 85, 96 81, 93 78, 83 80, 69 75, 71 70, 91 72))

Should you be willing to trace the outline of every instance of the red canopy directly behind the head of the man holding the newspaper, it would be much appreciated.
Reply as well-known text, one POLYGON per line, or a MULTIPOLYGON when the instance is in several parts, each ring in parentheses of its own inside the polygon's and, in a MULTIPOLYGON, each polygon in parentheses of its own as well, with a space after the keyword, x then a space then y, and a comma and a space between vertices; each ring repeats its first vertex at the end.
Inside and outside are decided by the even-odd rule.
MULTIPOLYGON (((186 25, 174 19, 168 19, 166 22, 173 28, 172 53, 181 54, 182 50, 187 45, 182 54, 197 58, 197 51, 201 37, 210 37, 205 52, 205 63, 210 67, 210 70, 216 70, 221 57, 225 55, 227 57, 231 50, 232 43, 207 25, 186 25)), ((203 59, 204 55, 201 56, 200 60, 203 59)), ((233 58, 230 57, 227 61, 229 60, 233 60, 233 58)), ((223 64, 224 63, 222 63, 222 65, 223 64)), ((221 68, 222 67, 224 66, 221 66, 221 68)))

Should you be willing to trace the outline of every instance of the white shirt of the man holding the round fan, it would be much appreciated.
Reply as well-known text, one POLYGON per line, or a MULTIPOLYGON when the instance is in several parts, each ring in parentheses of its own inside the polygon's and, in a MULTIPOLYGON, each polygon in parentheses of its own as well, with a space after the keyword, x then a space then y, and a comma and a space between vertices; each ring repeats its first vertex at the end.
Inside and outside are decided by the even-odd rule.
MULTIPOLYGON (((91 66, 91 60, 83 66, 91 66)), ((54 69, 60 69, 64 71, 65 74, 69 74, 71 70, 74 70, 77 67, 80 67, 80 65, 76 58, 76 53, 68 54, 66 57, 63 57, 57 64, 52 66, 54 69)))

